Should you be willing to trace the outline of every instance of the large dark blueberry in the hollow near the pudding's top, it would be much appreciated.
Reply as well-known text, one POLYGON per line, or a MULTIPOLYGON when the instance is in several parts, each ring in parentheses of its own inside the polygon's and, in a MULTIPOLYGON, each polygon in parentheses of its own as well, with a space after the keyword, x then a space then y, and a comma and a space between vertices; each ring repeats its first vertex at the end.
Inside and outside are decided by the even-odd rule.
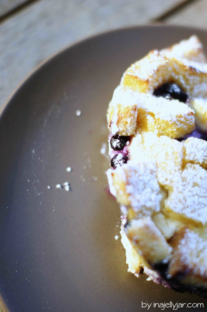
POLYGON ((165 83, 154 90, 153 94, 155 96, 162 96, 170 100, 179 100, 183 103, 186 103, 188 99, 187 94, 183 92, 182 89, 175 83, 165 83))

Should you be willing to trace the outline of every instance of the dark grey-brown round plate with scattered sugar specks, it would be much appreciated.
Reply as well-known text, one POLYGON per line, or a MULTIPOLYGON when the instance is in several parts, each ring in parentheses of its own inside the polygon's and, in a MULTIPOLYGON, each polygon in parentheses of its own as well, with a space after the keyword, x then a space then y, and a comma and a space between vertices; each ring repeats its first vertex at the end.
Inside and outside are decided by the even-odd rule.
POLYGON ((134 312, 148 302, 155 312, 161 309, 153 302, 171 301, 206 307, 203 298, 127 273, 115 240, 120 211, 107 192, 109 159, 100 153, 108 102, 125 69, 194 33, 207 51, 205 31, 181 27, 87 39, 46 62, 7 103, 0 120, 0 293, 9 311, 134 312), (64 182, 72 190, 56 188, 64 182))

